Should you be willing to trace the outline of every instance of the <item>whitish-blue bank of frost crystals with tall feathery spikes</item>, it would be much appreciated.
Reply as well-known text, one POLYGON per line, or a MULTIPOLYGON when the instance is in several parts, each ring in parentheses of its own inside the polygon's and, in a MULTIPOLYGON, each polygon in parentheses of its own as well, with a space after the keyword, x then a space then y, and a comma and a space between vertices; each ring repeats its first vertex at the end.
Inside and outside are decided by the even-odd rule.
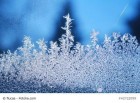
MULTIPOLYGON (((140 92, 140 46, 136 37, 113 33, 105 35, 98 44, 95 30, 91 33, 91 45, 73 44, 69 14, 65 34, 57 42, 24 37, 23 46, 14 53, 0 55, 0 78, 33 82, 36 87, 77 88, 88 92, 140 92)), ((65 92, 62 90, 62 92, 65 92)))

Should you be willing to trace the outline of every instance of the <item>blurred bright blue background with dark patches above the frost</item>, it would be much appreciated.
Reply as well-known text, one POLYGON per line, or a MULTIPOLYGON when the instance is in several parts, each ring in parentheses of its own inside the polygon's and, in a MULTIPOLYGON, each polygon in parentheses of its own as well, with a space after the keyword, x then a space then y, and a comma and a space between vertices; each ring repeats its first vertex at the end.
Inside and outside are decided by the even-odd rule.
POLYGON ((140 40, 140 0, 0 0, 0 52, 21 46, 24 35, 57 41, 68 13, 76 42, 89 44, 93 29, 100 41, 112 32, 140 40))

